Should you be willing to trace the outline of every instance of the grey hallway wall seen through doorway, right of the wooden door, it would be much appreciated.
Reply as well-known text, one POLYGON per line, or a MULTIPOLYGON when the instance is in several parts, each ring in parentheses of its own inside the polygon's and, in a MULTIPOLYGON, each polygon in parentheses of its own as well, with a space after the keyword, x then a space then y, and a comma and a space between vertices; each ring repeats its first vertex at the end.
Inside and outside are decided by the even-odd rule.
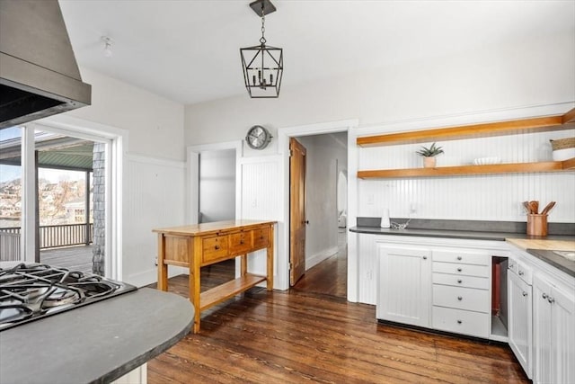
POLYGON ((338 251, 337 176, 347 168, 347 133, 304 136, 305 147, 305 269, 338 251), (337 137, 337 139, 336 139, 337 137))

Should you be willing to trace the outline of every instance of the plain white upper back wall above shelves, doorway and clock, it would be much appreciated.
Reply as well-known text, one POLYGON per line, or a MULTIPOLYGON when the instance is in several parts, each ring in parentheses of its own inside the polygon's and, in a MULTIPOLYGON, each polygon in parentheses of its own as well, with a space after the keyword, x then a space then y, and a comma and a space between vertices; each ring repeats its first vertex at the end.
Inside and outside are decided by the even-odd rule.
MULTIPOLYGON (((369 52, 358 59, 369 59, 369 52)), ((274 134, 279 127, 325 121, 358 119, 368 126, 573 101, 575 37, 484 47, 314 84, 294 85, 296 80, 286 65, 279 99, 246 93, 186 106, 186 144, 243 138, 254 124, 274 134)), ((246 149, 246 156, 251 153, 246 149)), ((277 153, 277 140, 264 153, 277 153)))

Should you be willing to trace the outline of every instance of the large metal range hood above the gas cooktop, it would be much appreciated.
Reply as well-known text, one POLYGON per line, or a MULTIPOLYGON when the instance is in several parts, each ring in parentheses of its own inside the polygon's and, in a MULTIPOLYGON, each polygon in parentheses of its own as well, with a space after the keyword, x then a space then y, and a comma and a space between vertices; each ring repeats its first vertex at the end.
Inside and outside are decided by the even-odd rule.
POLYGON ((91 101, 57 0, 0 0, 0 129, 91 101))

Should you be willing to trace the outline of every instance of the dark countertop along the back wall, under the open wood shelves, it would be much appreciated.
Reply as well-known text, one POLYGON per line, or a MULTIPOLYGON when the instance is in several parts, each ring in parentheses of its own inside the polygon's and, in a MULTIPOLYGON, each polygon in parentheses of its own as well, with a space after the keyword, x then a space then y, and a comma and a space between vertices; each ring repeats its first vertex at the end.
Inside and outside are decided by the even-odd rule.
POLYGON ((496 240, 505 241, 508 238, 536 238, 545 240, 575 240, 575 236, 549 235, 547 237, 533 237, 525 233, 514 232, 485 232, 468 230, 447 230, 447 229, 420 229, 420 228, 378 228, 378 227, 351 227, 349 231, 373 235, 394 235, 394 236, 415 236, 415 237, 447 237, 462 238, 468 240, 496 240))

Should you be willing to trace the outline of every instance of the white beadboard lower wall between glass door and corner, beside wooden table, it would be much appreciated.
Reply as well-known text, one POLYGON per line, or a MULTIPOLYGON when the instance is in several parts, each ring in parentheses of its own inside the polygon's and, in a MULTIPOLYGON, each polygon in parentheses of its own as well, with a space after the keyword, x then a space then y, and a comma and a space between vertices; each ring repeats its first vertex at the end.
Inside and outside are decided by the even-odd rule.
MULTIPOLYGON (((147 156, 125 157, 123 281, 143 286, 157 280, 153 228, 184 224, 185 163, 147 156)), ((171 266, 170 276, 181 269, 171 266)))

